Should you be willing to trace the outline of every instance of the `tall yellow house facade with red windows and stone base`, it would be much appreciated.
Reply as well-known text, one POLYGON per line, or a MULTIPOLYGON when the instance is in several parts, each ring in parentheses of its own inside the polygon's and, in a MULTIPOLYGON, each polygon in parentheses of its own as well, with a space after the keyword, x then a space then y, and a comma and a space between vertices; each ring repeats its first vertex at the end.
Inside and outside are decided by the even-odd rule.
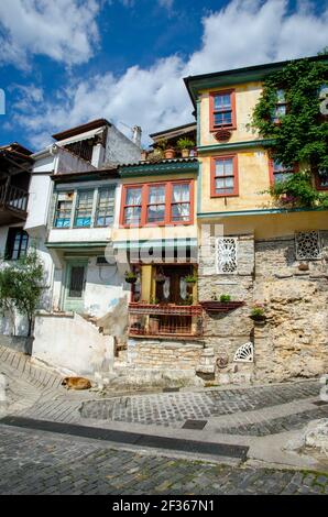
POLYGON ((208 349, 199 374, 219 383, 328 367, 328 211, 275 201, 270 186, 293 172, 272 160, 272 142, 252 128, 265 77, 285 64, 185 79, 199 161, 198 300, 208 349))

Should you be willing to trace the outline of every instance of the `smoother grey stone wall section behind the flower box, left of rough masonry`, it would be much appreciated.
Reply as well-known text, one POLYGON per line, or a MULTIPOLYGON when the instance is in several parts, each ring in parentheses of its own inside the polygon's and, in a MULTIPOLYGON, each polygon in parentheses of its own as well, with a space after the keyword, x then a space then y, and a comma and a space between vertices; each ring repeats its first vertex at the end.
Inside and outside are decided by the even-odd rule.
POLYGON ((239 346, 253 339, 249 306, 253 302, 254 238, 239 235, 238 267, 233 274, 217 273, 215 241, 216 239, 211 237, 208 245, 203 246, 199 253, 198 299, 200 301, 211 300, 214 297, 219 299, 220 295, 228 294, 232 300, 243 301, 244 305, 229 312, 204 314, 206 346, 214 350, 212 374, 219 383, 249 382, 254 370, 253 363, 237 364, 233 363, 233 356, 239 346))

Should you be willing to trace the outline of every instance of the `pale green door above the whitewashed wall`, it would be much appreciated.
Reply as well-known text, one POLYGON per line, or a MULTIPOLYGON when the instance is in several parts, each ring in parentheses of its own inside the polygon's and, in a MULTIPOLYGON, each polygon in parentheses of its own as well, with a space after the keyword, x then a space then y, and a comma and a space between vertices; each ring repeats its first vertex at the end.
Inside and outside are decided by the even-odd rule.
POLYGON ((64 310, 84 312, 87 265, 87 262, 67 263, 64 310))

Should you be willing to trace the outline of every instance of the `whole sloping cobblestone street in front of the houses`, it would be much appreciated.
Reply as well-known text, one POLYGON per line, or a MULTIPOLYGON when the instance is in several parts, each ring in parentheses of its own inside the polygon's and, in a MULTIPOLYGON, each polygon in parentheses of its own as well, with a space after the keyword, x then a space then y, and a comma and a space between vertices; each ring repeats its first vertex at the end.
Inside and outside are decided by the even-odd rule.
POLYGON ((327 458, 282 449, 327 417, 318 380, 103 397, 67 392, 54 372, 1 346, 0 366, 0 494, 328 493, 327 458))

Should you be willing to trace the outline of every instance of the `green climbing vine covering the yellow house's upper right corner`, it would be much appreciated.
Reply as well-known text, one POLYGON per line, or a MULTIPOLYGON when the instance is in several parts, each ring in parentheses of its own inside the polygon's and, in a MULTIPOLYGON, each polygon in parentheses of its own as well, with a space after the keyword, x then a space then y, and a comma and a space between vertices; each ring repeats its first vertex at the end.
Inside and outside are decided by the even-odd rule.
POLYGON ((253 112, 252 125, 271 139, 270 153, 298 172, 276 182, 270 193, 295 206, 328 207, 328 194, 315 188, 314 175, 328 173, 328 66, 294 61, 271 74, 253 112), (283 94, 282 94, 283 92, 283 94), (283 95, 285 113, 275 116, 283 95))

